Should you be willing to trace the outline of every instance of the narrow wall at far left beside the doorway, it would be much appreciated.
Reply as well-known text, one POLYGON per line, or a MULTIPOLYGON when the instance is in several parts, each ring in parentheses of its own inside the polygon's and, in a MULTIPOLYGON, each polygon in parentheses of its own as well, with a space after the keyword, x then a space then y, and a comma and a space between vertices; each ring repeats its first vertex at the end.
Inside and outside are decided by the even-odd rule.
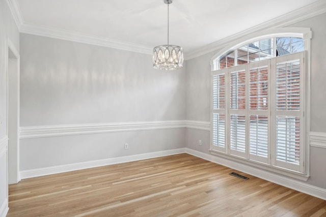
MULTIPOLYGON (((7 145, 6 138, 8 137, 7 129, 7 72, 8 72, 8 44, 9 39, 14 47, 19 50, 19 33, 15 21, 11 16, 6 0, 0 0, 0 115, 2 116, 3 124, 0 126, 0 141, 5 141, 0 144, 0 207, 7 208, 5 202, 8 202, 8 168, 7 168, 7 145)), ((0 210, 0 215, 5 210, 0 210)))

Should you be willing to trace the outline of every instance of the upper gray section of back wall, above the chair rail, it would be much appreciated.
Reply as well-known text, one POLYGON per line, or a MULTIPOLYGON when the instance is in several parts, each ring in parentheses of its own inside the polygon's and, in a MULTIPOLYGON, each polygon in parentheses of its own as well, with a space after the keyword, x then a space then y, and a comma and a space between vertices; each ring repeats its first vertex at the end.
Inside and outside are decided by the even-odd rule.
POLYGON ((148 54, 20 34, 20 126, 185 118, 185 68, 148 54))

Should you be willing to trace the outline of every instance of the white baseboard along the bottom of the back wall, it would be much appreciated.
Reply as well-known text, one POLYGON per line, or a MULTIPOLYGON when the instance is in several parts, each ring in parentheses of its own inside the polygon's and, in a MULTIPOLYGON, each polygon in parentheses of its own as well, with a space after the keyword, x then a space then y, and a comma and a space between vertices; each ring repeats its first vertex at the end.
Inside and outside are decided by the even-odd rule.
POLYGON ((151 158, 159 158, 159 157, 164 157, 164 156, 170 156, 173 154, 180 154, 180 153, 184 153, 184 152, 185 152, 184 148, 155 151, 155 152, 134 154, 134 155, 130 155, 130 156, 123 156, 123 157, 117 157, 117 158, 109 158, 109 159, 102 159, 102 160, 96 160, 96 161, 60 165, 60 166, 39 168, 39 169, 33 169, 33 170, 23 170, 23 171, 20 171, 20 175, 21 175, 21 178, 31 178, 31 177, 37 177, 37 176, 43 176, 43 175, 69 172, 69 171, 74 171, 74 170, 107 166, 107 165, 112 165, 112 164, 120 164, 120 163, 132 162, 132 161, 141 161, 141 160, 146 160, 146 159, 151 159, 151 158))

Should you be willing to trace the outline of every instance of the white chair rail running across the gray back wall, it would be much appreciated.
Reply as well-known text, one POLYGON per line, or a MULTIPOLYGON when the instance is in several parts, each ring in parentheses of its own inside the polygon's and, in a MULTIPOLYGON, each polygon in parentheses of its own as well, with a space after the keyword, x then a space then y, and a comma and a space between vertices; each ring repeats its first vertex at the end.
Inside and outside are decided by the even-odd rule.
POLYGON ((20 139, 185 128, 185 120, 20 127, 20 139))

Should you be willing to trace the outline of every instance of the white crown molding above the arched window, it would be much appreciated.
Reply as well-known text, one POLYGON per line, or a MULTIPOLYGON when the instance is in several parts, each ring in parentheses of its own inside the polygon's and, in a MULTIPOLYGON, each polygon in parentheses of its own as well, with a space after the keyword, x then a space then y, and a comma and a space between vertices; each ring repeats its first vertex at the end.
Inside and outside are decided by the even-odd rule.
POLYGON ((288 14, 279 16, 275 19, 271 19, 267 22, 258 24, 252 28, 246 29, 242 32, 236 33, 232 36, 226 37, 219 41, 213 42, 209 45, 206 45, 202 48, 189 52, 186 57, 187 59, 192 59, 198 56, 202 56, 204 54, 220 50, 224 48, 227 44, 232 41, 239 40, 243 36, 253 34, 255 32, 266 30, 268 28, 280 28, 291 25, 296 22, 300 22, 302 20, 317 16, 319 14, 326 13, 326 1, 319 0, 315 3, 312 3, 306 7, 294 10, 288 14))

